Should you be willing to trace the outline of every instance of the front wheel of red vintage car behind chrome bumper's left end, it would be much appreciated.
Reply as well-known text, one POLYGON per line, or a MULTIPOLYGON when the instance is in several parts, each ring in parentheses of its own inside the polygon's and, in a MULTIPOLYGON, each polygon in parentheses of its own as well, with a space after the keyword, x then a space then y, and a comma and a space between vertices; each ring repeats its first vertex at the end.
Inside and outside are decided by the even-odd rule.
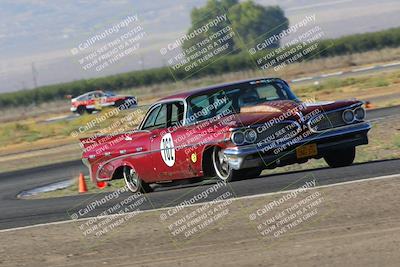
POLYGON ((215 147, 212 153, 212 163, 215 174, 220 180, 227 183, 239 180, 243 175, 243 171, 232 169, 225 159, 221 158, 221 153, 220 147, 215 147))

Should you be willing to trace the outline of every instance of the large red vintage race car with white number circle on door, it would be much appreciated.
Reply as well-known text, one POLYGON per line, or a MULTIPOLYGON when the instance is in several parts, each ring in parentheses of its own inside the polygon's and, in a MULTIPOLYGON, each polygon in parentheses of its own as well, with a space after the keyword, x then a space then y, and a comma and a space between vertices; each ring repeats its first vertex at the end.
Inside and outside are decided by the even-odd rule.
POLYGON ((230 182, 311 158, 341 167, 368 143, 364 119, 358 100, 301 101, 281 79, 245 80, 163 98, 137 130, 81 139, 83 162, 93 182, 125 179, 132 192, 187 178, 230 182))

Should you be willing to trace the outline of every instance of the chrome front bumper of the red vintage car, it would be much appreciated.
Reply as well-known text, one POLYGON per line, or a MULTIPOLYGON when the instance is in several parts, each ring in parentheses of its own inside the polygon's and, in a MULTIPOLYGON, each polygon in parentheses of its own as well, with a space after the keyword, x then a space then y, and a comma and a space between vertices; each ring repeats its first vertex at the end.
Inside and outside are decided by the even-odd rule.
POLYGON ((251 167, 267 167, 271 162, 280 161, 283 157, 295 156, 295 148, 308 143, 316 143, 318 156, 324 152, 349 146, 368 144, 367 132, 371 125, 367 122, 347 125, 330 129, 321 133, 300 138, 300 140, 287 140, 283 143, 252 144, 246 146, 229 147, 224 150, 224 155, 229 165, 235 169, 251 167), (278 151, 278 153, 275 153, 278 151))

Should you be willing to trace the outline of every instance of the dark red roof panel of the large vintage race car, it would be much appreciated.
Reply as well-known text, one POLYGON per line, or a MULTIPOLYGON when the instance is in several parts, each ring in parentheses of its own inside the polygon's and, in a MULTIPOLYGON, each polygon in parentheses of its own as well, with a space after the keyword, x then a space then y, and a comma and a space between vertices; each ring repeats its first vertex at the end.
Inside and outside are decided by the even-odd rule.
POLYGON ((177 94, 173 94, 164 98, 161 98, 160 100, 157 101, 158 102, 164 102, 164 101, 168 101, 168 100, 174 100, 174 99, 187 99, 191 96, 197 95, 197 94, 202 94, 202 93, 207 93, 207 92, 212 92, 218 89, 225 89, 228 87, 232 87, 232 86, 238 86, 238 85, 243 85, 243 84, 248 84, 250 82, 256 82, 256 81, 260 81, 260 80, 280 80, 283 81, 279 78, 253 78, 253 79, 246 79, 246 80, 240 80, 240 81, 235 81, 235 82, 229 82, 229 83, 220 83, 220 84, 215 84, 215 85, 211 85, 211 86, 207 86, 207 87, 200 87, 200 88, 196 88, 193 90, 189 90, 189 91, 184 91, 181 93, 177 93, 177 94))

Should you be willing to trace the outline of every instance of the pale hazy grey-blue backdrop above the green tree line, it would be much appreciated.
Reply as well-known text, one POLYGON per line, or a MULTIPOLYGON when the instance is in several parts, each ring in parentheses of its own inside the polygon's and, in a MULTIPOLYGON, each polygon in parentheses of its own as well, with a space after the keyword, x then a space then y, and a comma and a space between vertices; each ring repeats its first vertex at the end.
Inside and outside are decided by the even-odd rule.
MULTIPOLYGON (((0 0, 0 92, 161 66, 160 48, 184 34, 206 0, 0 0), (85 71, 71 49, 137 14, 140 49, 103 71, 85 71)), ((257 0, 280 5, 290 22, 316 14, 327 37, 400 26, 398 0, 257 0)))

